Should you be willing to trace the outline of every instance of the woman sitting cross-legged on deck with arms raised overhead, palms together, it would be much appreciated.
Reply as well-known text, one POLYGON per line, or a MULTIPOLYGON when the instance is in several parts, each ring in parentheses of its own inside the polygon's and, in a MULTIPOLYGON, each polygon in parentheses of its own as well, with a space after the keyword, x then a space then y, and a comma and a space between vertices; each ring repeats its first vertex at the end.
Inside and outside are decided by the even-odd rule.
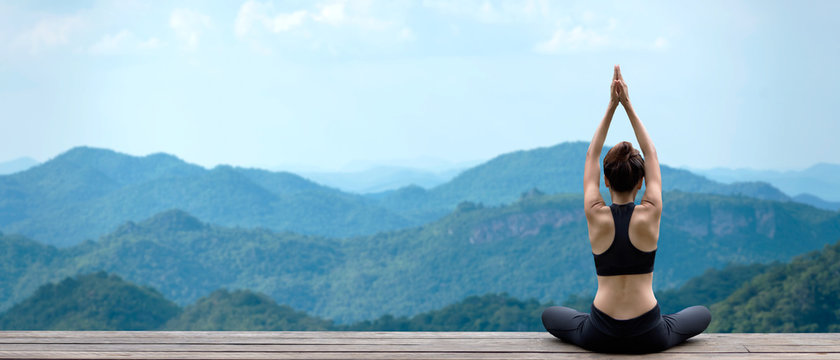
POLYGON ((583 173, 584 211, 598 274, 591 313, 553 306, 542 315, 552 335, 585 349, 613 353, 662 351, 697 335, 709 325, 704 306, 660 315, 653 295, 653 262, 662 215, 662 177, 656 149, 628 97, 621 69, 615 66, 607 114, 589 143, 583 173), (604 183, 612 205, 601 197, 598 157, 613 114, 624 106, 644 153, 624 141, 604 157, 604 183), (642 182, 646 188, 634 203, 642 182))

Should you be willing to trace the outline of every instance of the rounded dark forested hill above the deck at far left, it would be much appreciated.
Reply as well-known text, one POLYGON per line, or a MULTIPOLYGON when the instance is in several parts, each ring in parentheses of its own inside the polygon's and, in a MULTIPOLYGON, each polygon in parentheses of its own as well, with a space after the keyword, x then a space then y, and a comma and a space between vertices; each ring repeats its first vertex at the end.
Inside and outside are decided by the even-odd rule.
POLYGON ((152 330, 178 312, 156 290, 98 272, 41 286, 0 316, 0 329, 152 330))

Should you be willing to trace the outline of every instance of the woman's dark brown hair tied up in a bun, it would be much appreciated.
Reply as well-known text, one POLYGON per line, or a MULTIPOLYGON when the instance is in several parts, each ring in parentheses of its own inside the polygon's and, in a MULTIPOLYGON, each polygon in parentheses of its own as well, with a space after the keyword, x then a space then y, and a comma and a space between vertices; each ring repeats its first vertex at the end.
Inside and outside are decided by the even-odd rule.
POLYGON ((614 191, 633 190, 645 176, 645 159, 632 144, 622 141, 604 156, 604 176, 610 180, 610 187, 614 191))

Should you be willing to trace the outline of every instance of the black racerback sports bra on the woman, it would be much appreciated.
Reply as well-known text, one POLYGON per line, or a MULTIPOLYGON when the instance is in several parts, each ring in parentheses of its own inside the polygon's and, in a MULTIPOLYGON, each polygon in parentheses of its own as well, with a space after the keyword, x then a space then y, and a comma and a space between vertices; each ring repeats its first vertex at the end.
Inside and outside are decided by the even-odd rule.
POLYGON ((635 203, 612 204, 610 211, 615 222, 615 237, 607 251, 595 257, 595 272, 600 276, 647 274, 653 272, 656 250, 647 252, 637 249, 630 242, 630 216, 635 203))

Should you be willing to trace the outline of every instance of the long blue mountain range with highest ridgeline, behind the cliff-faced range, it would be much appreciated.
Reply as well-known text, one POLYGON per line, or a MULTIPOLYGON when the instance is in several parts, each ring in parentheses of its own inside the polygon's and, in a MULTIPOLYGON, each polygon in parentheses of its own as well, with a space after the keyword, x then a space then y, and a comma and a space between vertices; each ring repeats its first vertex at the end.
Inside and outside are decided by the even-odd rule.
MULTIPOLYGON (((369 235, 437 220, 463 201, 509 204, 534 188, 580 193, 587 147, 574 142, 517 151, 429 190, 414 186, 367 196, 291 173, 230 166, 207 170, 166 154, 134 157, 80 147, 0 176, 0 229, 69 246, 97 239, 126 221, 181 209, 224 226, 369 235)), ((662 172, 666 190, 788 200, 765 183, 724 185, 667 166, 662 172)))

